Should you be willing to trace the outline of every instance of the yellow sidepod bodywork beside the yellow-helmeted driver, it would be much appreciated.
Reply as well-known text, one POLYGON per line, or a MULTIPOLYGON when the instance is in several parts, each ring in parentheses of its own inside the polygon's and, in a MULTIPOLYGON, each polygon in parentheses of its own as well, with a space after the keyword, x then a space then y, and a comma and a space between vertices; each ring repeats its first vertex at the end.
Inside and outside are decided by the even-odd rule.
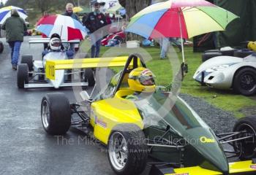
POLYGON ((129 123, 143 129, 143 120, 133 101, 122 98, 133 93, 132 90, 118 90, 116 96, 91 104, 91 125, 94 136, 108 144, 113 128, 118 124, 129 123))

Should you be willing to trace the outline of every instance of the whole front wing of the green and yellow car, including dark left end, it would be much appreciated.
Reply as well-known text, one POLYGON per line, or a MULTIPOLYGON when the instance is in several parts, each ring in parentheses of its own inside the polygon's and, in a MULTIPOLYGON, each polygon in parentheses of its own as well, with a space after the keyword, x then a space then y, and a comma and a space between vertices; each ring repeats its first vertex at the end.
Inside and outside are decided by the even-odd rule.
MULTIPOLYGON (((229 174, 255 174, 256 164, 252 160, 229 163, 229 174)), ((154 175, 221 175, 221 172, 211 171, 200 166, 186 168, 151 168, 150 174, 154 175)))

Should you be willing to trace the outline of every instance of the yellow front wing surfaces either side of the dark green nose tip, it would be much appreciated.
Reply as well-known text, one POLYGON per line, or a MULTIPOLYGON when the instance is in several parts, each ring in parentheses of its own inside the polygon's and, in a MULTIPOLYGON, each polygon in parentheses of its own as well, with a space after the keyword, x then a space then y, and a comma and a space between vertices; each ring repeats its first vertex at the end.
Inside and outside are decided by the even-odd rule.
MULTIPOLYGON (((230 174, 256 172, 256 164, 252 163, 252 160, 240 161, 229 163, 230 174)), ((221 172, 211 171, 208 169, 201 168, 200 166, 193 166, 187 168, 174 168, 174 174, 165 175, 220 175, 221 172)))

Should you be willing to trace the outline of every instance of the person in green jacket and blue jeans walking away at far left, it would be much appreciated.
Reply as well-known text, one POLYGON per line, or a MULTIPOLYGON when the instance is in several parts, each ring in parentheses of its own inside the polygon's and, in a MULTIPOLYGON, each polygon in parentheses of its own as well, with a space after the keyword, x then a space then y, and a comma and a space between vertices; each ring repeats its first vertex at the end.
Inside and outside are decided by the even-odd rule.
POLYGON ((16 9, 12 9, 11 17, 5 20, 3 30, 6 31, 6 40, 12 50, 12 69, 17 70, 20 46, 23 42, 24 32, 27 30, 25 21, 20 18, 16 9))

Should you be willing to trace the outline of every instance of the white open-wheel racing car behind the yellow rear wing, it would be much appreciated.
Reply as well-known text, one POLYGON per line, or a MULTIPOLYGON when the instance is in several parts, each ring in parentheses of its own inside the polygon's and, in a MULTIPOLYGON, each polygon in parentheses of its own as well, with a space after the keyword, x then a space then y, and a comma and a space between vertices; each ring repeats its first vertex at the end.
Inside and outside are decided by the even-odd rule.
MULTIPOLYGON (((30 39, 31 44, 49 43, 49 38, 30 39)), ((61 43, 79 44, 80 40, 61 41, 61 43)), ((77 71, 58 70, 54 72, 56 79, 48 79, 45 69, 46 61, 64 61, 69 60, 65 50, 47 52, 42 56, 42 60, 33 60, 32 55, 23 55, 18 65, 17 85, 18 88, 60 88, 72 86, 93 86, 95 83, 92 69, 79 69, 77 71), (74 79, 77 77, 77 79, 74 79)), ((71 61, 71 60, 70 60, 71 61)))

